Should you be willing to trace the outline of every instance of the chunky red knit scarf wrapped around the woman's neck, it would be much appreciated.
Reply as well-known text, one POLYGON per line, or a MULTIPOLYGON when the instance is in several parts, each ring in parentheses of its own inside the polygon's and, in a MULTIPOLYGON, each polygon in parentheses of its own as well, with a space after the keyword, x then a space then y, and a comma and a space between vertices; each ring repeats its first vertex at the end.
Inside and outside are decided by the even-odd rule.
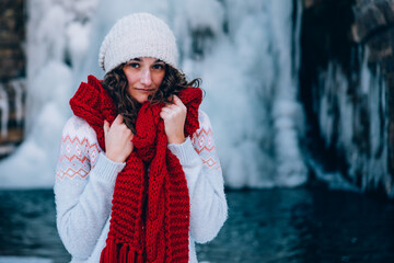
MULTIPOLYGON (((187 88, 178 96, 187 107, 188 136, 199 125, 201 90, 187 88)), ((112 124, 117 111, 100 81, 89 76, 70 105, 74 115, 93 127, 105 150, 104 119, 112 124)), ((188 262, 189 195, 179 160, 167 149, 159 115, 162 106, 146 102, 138 113, 134 150, 116 179, 109 232, 100 262, 188 262)))

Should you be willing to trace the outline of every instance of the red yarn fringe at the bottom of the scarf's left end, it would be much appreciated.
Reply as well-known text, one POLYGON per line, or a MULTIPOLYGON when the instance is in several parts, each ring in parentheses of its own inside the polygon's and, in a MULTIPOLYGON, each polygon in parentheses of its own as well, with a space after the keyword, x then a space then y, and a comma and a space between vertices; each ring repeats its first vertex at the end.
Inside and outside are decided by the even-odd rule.
POLYGON ((143 263, 143 255, 132 250, 128 244, 116 244, 113 239, 107 240, 100 262, 103 263, 143 263), (118 249, 120 247, 120 249, 118 249))

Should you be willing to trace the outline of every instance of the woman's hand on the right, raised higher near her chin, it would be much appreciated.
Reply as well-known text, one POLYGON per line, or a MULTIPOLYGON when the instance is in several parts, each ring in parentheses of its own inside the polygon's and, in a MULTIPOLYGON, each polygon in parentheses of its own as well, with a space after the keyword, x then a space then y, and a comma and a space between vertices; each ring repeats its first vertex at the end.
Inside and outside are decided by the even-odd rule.
POLYGON ((176 95, 173 96, 174 104, 162 107, 160 117, 164 121, 165 135, 169 144, 182 144, 185 141, 185 121, 187 108, 176 95))

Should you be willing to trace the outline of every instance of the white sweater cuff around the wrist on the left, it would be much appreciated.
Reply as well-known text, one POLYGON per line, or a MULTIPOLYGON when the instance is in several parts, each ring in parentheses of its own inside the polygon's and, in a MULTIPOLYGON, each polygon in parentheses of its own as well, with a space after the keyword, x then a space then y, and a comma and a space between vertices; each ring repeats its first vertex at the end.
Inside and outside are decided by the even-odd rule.
POLYGON ((92 172, 94 172, 95 178, 99 180, 104 180, 115 184, 117 174, 125 167, 126 162, 114 162, 106 158, 103 152, 100 152, 99 160, 95 167, 92 169, 92 172))

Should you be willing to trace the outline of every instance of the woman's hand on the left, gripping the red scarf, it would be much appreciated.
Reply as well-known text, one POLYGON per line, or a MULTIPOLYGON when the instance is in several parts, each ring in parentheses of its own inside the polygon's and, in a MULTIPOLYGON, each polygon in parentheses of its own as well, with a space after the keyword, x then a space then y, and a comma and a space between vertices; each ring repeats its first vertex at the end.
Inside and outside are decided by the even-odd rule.
POLYGON ((123 117, 118 114, 109 127, 104 121, 105 156, 115 162, 124 162, 131 153, 134 134, 124 124, 123 117))

